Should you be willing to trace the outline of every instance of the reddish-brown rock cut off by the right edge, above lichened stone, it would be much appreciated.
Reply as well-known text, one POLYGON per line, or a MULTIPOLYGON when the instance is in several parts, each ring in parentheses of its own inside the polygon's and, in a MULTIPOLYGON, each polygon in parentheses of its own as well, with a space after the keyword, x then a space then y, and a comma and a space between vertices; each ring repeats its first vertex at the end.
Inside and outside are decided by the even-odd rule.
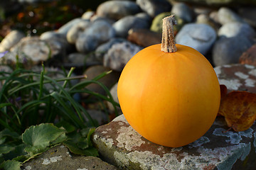
POLYGON ((252 45, 246 52, 243 52, 239 58, 240 64, 251 64, 256 66, 256 44, 252 45))

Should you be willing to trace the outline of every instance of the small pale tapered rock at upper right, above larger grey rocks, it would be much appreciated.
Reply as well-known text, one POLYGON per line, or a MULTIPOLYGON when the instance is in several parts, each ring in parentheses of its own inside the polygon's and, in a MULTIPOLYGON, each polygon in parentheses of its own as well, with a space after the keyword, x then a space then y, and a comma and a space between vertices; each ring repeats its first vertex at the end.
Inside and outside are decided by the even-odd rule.
POLYGON ((230 8, 221 7, 218 10, 218 21, 221 24, 232 23, 232 22, 244 22, 237 13, 230 10, 230 8))

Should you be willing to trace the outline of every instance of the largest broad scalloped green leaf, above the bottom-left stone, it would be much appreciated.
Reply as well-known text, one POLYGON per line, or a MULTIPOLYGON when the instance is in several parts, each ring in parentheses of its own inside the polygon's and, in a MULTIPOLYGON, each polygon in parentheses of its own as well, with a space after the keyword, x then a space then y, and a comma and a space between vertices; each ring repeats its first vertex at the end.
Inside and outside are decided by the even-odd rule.
MULTIPOLYGON (((22 134, 22 140, 26 145, 43 149, 48 147, 50 142, 54 142, 58 137, 65 134, 65 130, 55 127, 53 124, 46 123, 31 126, 22 134)), ((63 136, 61 136, 63 138, 63 136)))

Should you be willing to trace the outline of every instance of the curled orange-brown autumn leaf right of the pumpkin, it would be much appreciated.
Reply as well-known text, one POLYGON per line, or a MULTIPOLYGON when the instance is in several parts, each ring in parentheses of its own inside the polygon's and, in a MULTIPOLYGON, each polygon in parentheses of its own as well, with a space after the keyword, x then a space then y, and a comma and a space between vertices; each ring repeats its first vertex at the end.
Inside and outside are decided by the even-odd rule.
POLYGON ((221 98, 219 114, 236 132, 247 130, 256 120, 256 94, 231 91, 221 98))

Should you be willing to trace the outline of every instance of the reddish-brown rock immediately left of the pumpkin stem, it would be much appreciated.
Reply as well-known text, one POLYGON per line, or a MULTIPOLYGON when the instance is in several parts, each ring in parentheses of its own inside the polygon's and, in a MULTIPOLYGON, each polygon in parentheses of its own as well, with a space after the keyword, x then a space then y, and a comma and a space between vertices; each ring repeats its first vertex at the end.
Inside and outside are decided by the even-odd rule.
POLYGON ((128 40, 142 47, 148 47, 161 43, 161 33, 155 33, 146 29, 131 29, 128 33, 128 40))

